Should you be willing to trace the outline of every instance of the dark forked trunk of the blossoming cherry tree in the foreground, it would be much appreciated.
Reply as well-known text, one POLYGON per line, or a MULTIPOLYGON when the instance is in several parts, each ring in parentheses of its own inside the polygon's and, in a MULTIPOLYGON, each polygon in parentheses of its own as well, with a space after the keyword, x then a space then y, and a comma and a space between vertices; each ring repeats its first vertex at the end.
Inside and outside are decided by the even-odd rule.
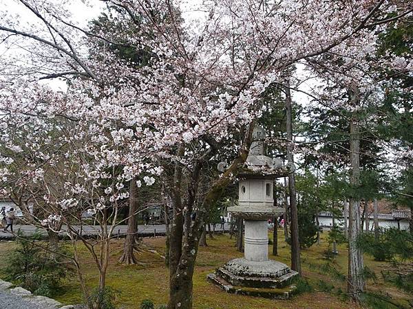
MULTIPOLYGON (((248 157, 248 150, 251 145, 253 126, 254 121, 252 121, 248 126, 243 145, 238 152, 238 157, 233 160, 229 168, 213 183, 207 194, 204 196, 202 205, 199 208, 200 211, 197 214, 193 225, 191 225, 191 213, 193 211, 193 206, 198 199, 200 170, 202 168, 202 164, 204 163, 202 159, 196 159, 194 161, 193 170, 187 183, 187 198, 185 199, 185 207, 182 208, 181 205, 180 211, 173 216, 173 220, 175 220, 176 215, 180 215, 182 220, 184 218, 184 238, 182 238, 182 236, 176 237, 176 235, 173 235, 173 233, 175 233, 173 232, 174 227, 178 226, 175 224, 176 222, 172 222, 171 227, 168 309, 192 308, 193 268, 195 267, 195 259, 198 253, 198 241, 204 225, 205 212, 209 211, 211 205, 215 205, 215 203, 219 201, 222 197, 224 189, 229 185, 229 183, 231 183, 233 176, 236 176, 240 165, 245 163, 246 158, 248 157), (178 244, 180 245, 179 248, 178 244), (176 253, 178 250, 179 253, 176 253)), ((182 149, 183 155, 184 149, 180 149, 182 149)), ((177 166, 180 165, 177 163, 176 167, 177 166)), ((182 168, 180 168, 180 171, 182 174, 182 168)), ((182 179, 182 177, 180 178, 182 179)), ((178 187, 178 183, 180 183, 180 181, 176 181, 176 177, 174 177, 174 188, 178 187)), ((182 201, 182 198, 179 200, 182 201)), ((182 227, 182 225, 180 226, 182 227)))

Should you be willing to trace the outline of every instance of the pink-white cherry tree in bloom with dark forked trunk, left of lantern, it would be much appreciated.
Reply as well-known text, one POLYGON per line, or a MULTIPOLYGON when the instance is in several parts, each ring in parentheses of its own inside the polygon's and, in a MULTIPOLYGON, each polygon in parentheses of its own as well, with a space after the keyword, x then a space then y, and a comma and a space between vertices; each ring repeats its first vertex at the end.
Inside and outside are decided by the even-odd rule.
MULTIPOLYGON (((350 51, 354 60, 365 57, 377 40, 373 28, 411 13, 408 1, 232 0, 196 3, 194 18, 178 1, 107 0, 123 12, 116 16, 121 23, 139 25, 141 32, 131 34, 125 26, 116 38, 76 23, 71 1, 15 2, 34 19, 21 24, 3 12, 0 23, 0 40, 9 51, 0 62, 0 109, 6 123, 20 128, 27 121, 61 117, 76 124, 78 130, 65 136, 76 140, 71 149, 76 157, 87 156, 79 161, 83 165, 76 179, 90 184, 81 190, 88 196, 96 192, 90 209, 101 211, 103 218, 109 205, 127 197, 125 183, 145 175, 142 180, 151 185, 164 165, 173 166, 172 181, 165 183, 173 207, 169 308, 192 307, 205 214, 246 160, 265 89, 282 82, 285 69, 300 61, 350 51), (147 21, 143 25, 142 19, 147 21), (120 42, 151 51, 156 63, 130 65, 109 48, 120 42), (10 48, 16 44, 22 49, 13 54, 10 48), (104 51, 90 54, 96 44, 104 51), (67 82, 66 91, 41 85, 55 78, 67 82), (216 145, 239 132, 244 137, 229 168, 201 194, 199 182, 216 145), (106 203, 97 202, 100 198, 106 203), (198 216, 191 222, 194 210, 198 216)), ((8 179, 15 173, 9 164, 13 153, 1 154, 1 176, 8 179)), ((56 203, 57 210, 70 210, 80 201, 67 203, 70 207, 56 203)))

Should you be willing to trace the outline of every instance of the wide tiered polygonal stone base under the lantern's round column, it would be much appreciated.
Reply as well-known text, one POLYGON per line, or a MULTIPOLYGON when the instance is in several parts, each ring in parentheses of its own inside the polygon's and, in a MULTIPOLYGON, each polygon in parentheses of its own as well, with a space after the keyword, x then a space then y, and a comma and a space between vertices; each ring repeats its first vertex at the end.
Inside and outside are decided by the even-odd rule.
POLYGON ((281 262, 253 262, 239 258, 218 268, 207 279, 227 293, 289 299, 295 290, 292 284, 297 275, 281 262))

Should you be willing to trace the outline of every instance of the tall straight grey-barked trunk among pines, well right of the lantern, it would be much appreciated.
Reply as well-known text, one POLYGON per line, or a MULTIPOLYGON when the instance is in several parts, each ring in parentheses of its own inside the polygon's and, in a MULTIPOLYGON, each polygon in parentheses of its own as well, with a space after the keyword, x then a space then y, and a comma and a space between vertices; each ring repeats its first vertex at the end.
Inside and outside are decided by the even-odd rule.
MULTIPOLYGON (((354 93, 352 93, 354 97, 354 93)), ((354 98, 353 98, 354 99, 354 98)), ((350 185, 357 190, 360 185, 360 129, 357 119, 350 122, 350 185)), ((363 255, 357 248, 357 238, 361 235, 360 207, 357 196, 350 198, 348 226, 348 295, 359 301, 365 288, 363 279, 363 255)))

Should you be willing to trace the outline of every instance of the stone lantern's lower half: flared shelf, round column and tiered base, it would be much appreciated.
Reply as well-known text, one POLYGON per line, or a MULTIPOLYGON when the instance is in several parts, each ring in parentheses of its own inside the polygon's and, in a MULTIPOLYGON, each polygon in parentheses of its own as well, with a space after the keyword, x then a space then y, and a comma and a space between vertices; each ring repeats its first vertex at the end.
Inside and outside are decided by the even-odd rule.
POLYGON ((282 213, 278 207, 261 208, 262 212, 251 207, 230 207, 235 216, 245 220, 244 258, 237 258, 208 275, 209 282, 227 293, 288 299, 295 286, 293 279, 298 275, 286 264, 268 259, 268 222, 251 220, 272 217, 282 213))

